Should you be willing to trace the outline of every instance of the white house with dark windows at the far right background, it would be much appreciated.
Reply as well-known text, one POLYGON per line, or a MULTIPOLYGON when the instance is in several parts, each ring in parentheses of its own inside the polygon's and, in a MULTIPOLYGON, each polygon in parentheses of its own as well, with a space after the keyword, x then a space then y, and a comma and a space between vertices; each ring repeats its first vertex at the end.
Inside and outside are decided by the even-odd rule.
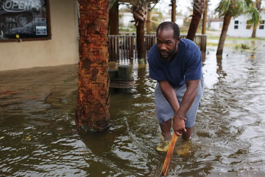
MULTIPOLYGON (((264 27, 264 20, 265 20, 265 11, 261 12, 262 22, 257 27, 256 37, 265 38, 265 27, 264 27)), ((230 24, 227 30, 227 36, 234 36, 234 37, 251 37, 253 32, 253 27, 250 27, 247 24, 248 15, 240 15, 235 19, 231 19, 230 24)))

